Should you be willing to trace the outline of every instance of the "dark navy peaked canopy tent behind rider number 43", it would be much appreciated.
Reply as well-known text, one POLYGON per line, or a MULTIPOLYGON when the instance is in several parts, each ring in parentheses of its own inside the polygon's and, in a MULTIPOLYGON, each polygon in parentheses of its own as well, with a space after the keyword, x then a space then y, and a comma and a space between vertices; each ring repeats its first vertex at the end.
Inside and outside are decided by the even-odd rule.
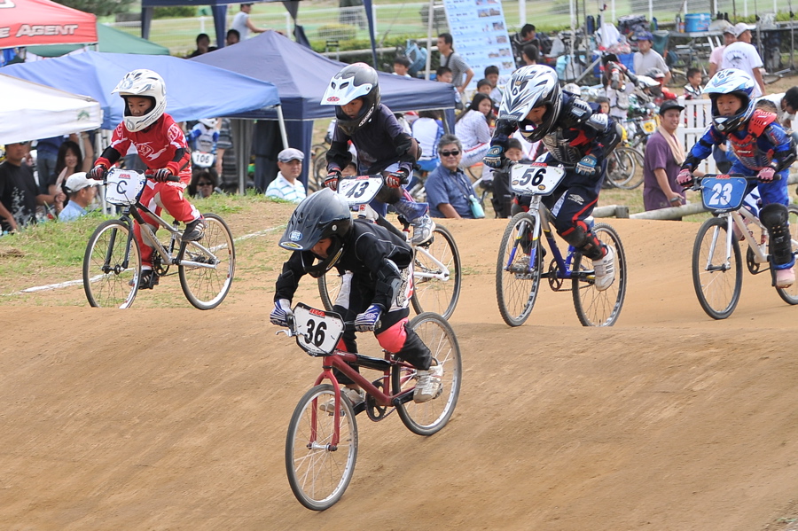
MULTIPOLYGON (((219 66, 239 74, 274 83, 279 90, 286 120, 288 143, 302 152, 310 152, 313 121, 332 118, 334 107, 321 105, 322 96, 334 74, 345 63, 327 59, 274 31, 247 39, 190 59, 219 66)), ((394 112, 451 109, 455 89, 449 83, 408 79, 379 73, 382 103, 394 112)), ((244 113, 247 118, 275 120, 271 111, 244 113)), ((309 164, 303 165, 301 179, 307 183, 309 164)))

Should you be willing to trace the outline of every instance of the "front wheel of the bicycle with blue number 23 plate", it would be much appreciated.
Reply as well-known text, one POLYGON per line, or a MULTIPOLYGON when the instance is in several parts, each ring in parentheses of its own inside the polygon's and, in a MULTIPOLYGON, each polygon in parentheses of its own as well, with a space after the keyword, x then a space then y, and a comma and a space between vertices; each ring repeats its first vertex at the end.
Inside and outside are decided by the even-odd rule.
POLYGON ((726 218, 710 218, 701 224, 692 246, 692 287, 701 308, 713 319, 731 316, 742 291, 739 242, 733 235, 732 263, 728 268, 718 265, 726 261, 726 231, 726 218))

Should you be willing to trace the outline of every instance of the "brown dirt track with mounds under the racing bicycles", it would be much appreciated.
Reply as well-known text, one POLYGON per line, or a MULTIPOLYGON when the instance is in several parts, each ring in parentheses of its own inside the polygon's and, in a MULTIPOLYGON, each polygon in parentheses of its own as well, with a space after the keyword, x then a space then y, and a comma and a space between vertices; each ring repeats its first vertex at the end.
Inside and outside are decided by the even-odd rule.
POLYGON ((630 269, 611 329, 582 328, 548 290, 508 328, 493 280, 505 223, 447 223, 468 273, 451 319, 458 409, 428 439, 358 417, 355 478, 323 513, 293 499, 283 464, 319 371, 268 323, 284 254, 264 264, 239 246, 212 312, 146 308, 182 297, 175 278, 126 311, 85 308, 80 287, 29 299, 67 306, 4 307, 0 528, 785 529, 798 308, 746 274, 734 315, 712 321, 692 293, 698 224, 610 223, 630 269))

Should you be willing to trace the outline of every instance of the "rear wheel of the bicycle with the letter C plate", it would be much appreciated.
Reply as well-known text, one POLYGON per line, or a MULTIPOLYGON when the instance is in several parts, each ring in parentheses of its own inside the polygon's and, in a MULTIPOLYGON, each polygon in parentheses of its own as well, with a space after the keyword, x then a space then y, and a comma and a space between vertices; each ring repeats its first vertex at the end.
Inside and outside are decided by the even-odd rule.
POLYGON ((205 214, 205 235, 197 242, 185 246, 183 260, 209 263, 210 257, 200 249, 205 247, 215 254, 214 269, 192 267, 178 264, 180 287, 185 298, 194 308, 213 309, 219 306, 227 293, 230 293, 233 276, 236 272, 236 247, 230 227, 215 214, 205 214))

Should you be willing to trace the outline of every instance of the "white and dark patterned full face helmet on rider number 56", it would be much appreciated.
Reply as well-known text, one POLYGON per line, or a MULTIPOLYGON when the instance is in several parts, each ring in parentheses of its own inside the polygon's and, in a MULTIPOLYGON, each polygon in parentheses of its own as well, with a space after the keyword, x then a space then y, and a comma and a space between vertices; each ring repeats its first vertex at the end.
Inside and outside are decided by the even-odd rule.
POLYGON ((516 121, 521 135, 529 142, 536 142, 551 131, 561 107, 562 92, 554 69, 543 65, 523 66, 512 73, 505 87, 499 119, 516 121), (543 121, 540 124, 528 121, 529 111, 541 105, 546 106, 543 121))

